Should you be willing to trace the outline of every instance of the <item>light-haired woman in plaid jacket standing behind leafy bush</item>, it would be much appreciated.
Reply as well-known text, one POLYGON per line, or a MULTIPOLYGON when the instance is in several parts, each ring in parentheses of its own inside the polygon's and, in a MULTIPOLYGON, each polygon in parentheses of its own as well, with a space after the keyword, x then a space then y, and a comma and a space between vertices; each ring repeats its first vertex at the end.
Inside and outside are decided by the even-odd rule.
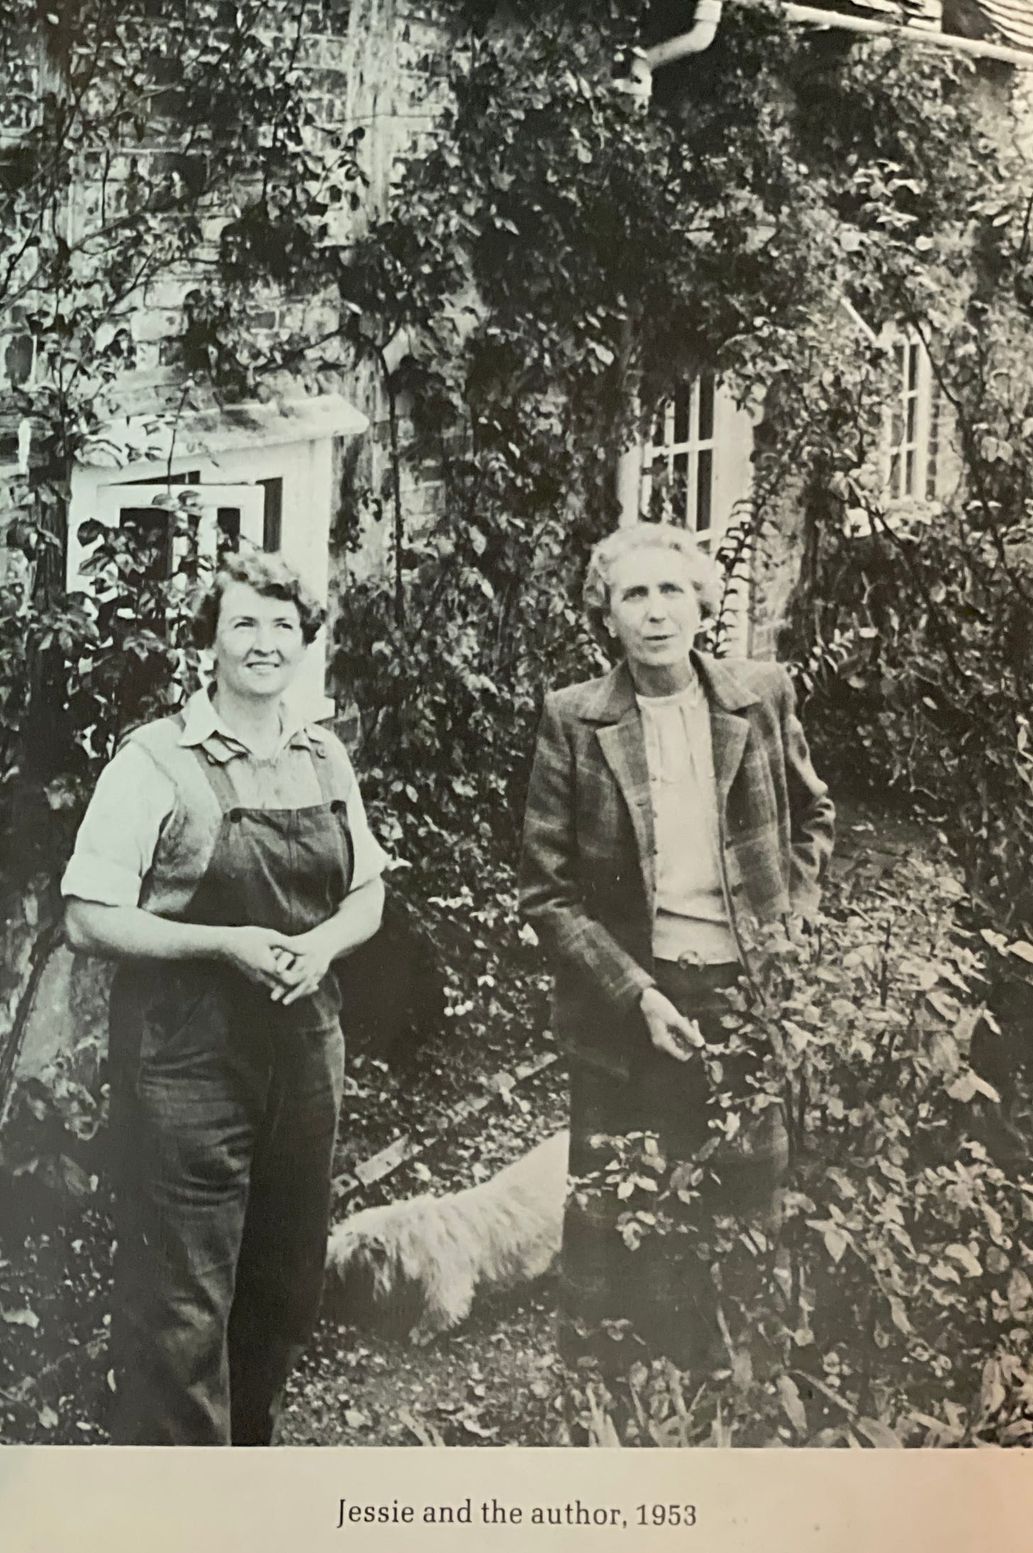
MULTIPOLYGON (((598 1135, 654 1132, 668 1162, 699 1149, 697 1051, 721 1039, 721 989, 749 966, 758 927, 814 912, 831 853, 834 811, 786 671, 693 648, 715 578, 685 530, 610 534, 586 604, 623 660, 545 699, 520 902, 556 975, 575 1179, 612 1157, 592 1146, 598 1135)), ((764 1117, 705 1211, 774 1211, 786 1134, 778 1107, 764 1117)), ((569 1359, 589 1340, 604 1353, 600 1322, 621 1317, 679 1362, 713 1356, 708 1280, 626 1252, 600 1194, 570 1194, 561 1289, 569 1359)))

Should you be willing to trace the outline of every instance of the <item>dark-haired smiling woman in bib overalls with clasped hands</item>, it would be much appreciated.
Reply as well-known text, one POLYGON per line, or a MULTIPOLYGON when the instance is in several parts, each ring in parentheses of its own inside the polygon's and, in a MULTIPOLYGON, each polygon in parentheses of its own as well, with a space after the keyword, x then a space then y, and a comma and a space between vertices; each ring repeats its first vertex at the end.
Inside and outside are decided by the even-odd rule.
POLYGON ((275 556, 202 604, 214 685, 101 773, 62 884, 120 961, 112 1438, 269 1444, 318 1312, 343 1086, 332 961, 379 927, 348 756, 281 697, 323 620, 275 556))

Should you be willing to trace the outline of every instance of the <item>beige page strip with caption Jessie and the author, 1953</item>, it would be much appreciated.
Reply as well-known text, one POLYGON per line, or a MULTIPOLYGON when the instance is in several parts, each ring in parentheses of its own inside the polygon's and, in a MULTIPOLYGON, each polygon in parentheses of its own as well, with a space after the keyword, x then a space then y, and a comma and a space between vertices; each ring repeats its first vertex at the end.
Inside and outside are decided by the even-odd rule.
POLYGON ((1021 1553, 1025 1451, 0 1451, 3 1553, 1021 1553), (409 1525, 345 1525, 348 1503, 412 1505, 409 1525), (469 1525, 426 1505, 471 1500, 469 1525), (482 1503, 520 1506, 485 1525, 482 1503), (536 1505, 618 1510, 617 1528, 531 1525, 536 1505), (694 1528, 640 1528, 640 1503, 694 1503, 694 1528))

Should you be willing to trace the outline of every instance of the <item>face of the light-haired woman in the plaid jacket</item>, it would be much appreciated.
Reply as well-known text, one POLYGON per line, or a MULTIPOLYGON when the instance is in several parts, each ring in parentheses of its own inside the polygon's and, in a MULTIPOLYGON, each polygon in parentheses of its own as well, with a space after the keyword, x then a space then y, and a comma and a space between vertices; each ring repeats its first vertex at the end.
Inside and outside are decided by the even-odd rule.
POLYGON ((688 649, 702 626, 699 599, 677 550, 643 545, 620 556, 609 578, 606 626, 646 694, 688 683, 688 649))

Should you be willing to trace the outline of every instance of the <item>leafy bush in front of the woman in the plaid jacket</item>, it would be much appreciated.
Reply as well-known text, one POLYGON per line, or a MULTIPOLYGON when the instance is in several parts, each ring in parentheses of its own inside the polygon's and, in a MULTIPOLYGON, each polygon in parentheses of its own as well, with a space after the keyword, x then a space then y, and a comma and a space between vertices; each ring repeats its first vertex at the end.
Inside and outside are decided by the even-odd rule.
POLYGON ((974 1065, 1000 1037, 982 1003, 986 946, 957 926, 958 898, 926 862, 875 895, 833 890, 816 932, 772 938, 730 999, 708 1048, 711 1141, 673 1165, 648 1137, 614 1140, 607 1169, 581 1182, 609 1199, 624 1246, 662 1235, 668 1256, 710 1270, 721 1362, 682 1373, 626 1337, 621 1379, 572 1376, 570 1440, 1030 1443, 1033 1188, 1008 1143, 1028 1101, 974 1065), (749 1096, 715 1081, 743 1039, 769 1051, 749 1096), (769 1095, 789 1118, 781 1224, 701 1218, 716 1145, 769 1095))

